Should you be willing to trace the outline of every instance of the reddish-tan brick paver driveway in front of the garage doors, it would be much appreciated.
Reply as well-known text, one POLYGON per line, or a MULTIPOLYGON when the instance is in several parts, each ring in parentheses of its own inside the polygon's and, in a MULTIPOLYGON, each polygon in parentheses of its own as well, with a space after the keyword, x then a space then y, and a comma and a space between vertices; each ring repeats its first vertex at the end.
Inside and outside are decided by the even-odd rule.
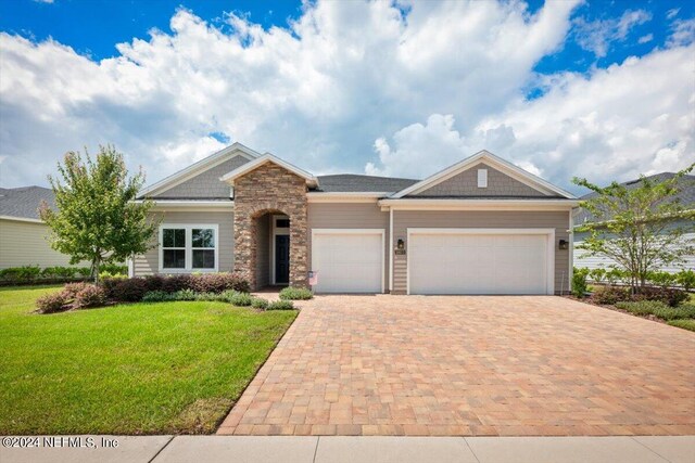
POLYGON ((695 333, 560 297, 319 296, 219 434, 695 434, 695 333))

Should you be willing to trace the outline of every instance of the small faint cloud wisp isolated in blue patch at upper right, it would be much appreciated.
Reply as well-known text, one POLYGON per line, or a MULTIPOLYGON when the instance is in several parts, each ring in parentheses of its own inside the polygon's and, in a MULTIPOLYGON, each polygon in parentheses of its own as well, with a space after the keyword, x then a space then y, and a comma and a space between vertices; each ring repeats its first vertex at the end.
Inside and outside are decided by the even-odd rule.
POLYGON ((614 41, 623 41, 630 30, 652 20, 652 14, 644 10, 628 10, 620 18, 586 21, 574 20, 573 34, 577 43, 591 51, 596 57, 604 57, 614 41))

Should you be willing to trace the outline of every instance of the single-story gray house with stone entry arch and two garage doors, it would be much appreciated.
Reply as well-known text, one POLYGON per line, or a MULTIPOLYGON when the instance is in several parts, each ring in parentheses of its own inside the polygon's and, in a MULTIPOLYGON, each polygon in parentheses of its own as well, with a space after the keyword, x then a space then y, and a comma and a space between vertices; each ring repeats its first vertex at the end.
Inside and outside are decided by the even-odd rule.
POLYGON ((482 151, 425 180, 314 176, 239 143, 141 192, 154 247, 135 275, 239 271, 253 288, 554 294, 571 279, 577 198, 482 151))

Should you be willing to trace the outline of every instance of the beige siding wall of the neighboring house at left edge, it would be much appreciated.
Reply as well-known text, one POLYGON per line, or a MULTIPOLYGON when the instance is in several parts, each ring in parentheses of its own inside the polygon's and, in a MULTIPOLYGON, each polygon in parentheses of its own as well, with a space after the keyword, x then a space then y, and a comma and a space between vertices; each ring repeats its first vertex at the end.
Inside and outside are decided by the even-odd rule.
MULTIPOLYGON (((45 223, 0 219, 0 269, 8 267, 70 266, 70 256, 51 248, 45 223)), ((89 266, 80 262, 76 266, 89 266)))

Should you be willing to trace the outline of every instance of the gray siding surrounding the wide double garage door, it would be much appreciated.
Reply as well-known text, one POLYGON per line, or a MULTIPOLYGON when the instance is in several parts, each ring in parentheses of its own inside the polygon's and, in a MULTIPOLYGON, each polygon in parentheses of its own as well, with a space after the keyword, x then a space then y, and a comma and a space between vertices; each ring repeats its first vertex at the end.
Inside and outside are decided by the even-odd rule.
POLYGON ((408 228, 554 228, 555 229, 555 291, 569 287, 569 249, 558 249, 559 240, 569 240, 569 210, 567 211, 479 211, 479 210, 394 210, 393 240, 405 241, 406 255, 394 256, 393 291, 407 291, 407 229, 408 228))

